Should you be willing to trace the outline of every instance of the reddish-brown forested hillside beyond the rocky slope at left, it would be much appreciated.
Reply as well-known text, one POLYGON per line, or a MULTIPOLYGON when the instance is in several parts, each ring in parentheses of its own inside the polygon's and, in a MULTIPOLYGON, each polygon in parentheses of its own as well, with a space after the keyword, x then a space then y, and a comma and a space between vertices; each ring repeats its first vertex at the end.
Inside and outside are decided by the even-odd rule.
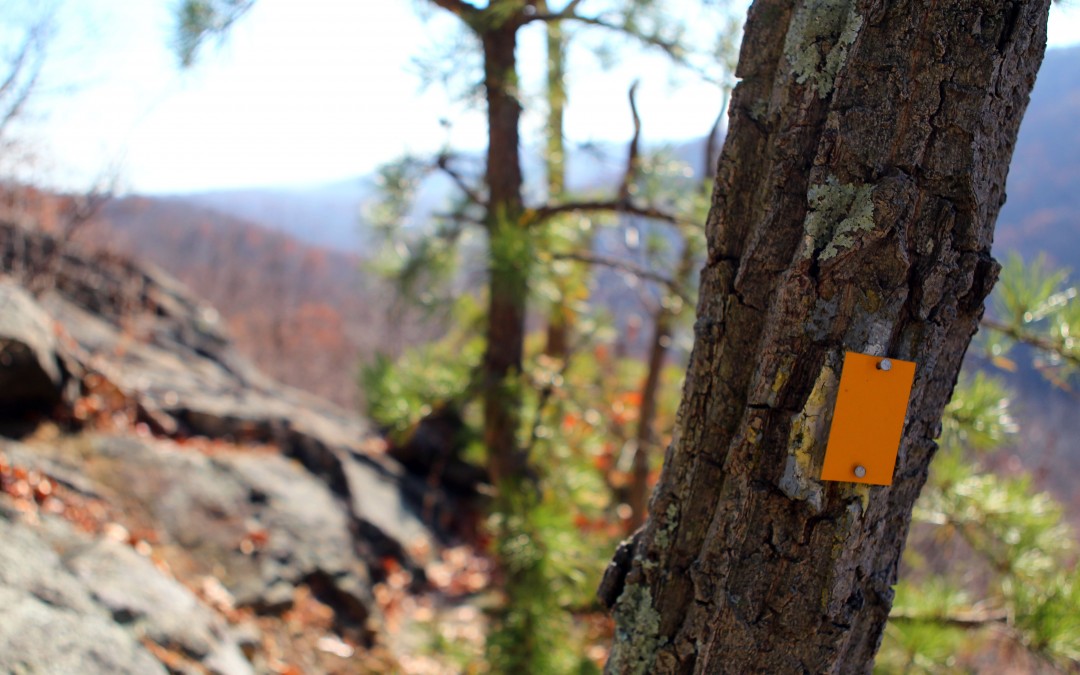
POLYGON ((176 275, 272 377, 357 409, 360 363, 433 335, 357 254, 179 199, 105 203, 78 237, 176 275), (400 310, 400 311, 399 311, 400 310))

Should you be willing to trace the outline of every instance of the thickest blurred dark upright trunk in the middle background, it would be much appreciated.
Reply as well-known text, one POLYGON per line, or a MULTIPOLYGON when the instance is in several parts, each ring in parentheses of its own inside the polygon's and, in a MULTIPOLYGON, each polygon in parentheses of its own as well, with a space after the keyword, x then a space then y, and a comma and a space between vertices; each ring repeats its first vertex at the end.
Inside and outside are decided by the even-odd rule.
POLYGON ((525 470, 517 442, 522 402, 522 354, 528 299, 529 233, 522 224, 522 167, 518 157, 518 24, 507 21, 481 33, 487 94, 488 148, 488 328, 483 362, 484 443, 488 469, 499 484, 525 470))

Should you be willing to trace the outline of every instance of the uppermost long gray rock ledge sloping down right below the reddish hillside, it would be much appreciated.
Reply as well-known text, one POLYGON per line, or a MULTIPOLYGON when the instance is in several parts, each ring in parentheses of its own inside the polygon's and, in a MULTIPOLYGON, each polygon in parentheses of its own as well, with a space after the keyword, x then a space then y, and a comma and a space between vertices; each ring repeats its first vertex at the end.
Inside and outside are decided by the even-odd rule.
MULTIPOLYGON (((11 226, 0 222, 0 237, 4 227, 11 226)), ((35 240, 21 252, 54 246, 41 232, 18 235, 35 240)), ((393 458, 366 457, 377 444, 365 420, 260 374, 232 348, 216 312, 178 282, 149 266, 71 247, 53 269, 56 282, 42 307, 75 340, 83 365, 135 400, 151 426, 168 434, 276 445, 340 499, 335 508, 357 525, 353 537, 376 555, 404 555, 414 542, 437 539, 428 524, 432 514, 422 513, 424 486, 393 458)), ((189 487, 210 500, 208 492, 230 489, 220 483, 189 487)), ((168 491, 167 499, 187 500, 168 491)), ((234 501, 231 492, 226 501, 234 501)))

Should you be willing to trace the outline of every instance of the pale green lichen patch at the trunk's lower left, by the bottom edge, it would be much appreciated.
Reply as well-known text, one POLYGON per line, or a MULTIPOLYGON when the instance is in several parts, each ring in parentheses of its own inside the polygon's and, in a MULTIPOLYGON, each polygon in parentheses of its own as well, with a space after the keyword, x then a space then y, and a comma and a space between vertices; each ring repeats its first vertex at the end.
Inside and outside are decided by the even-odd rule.
POLYGON ((631 584, 615 606, 616 635, 608 672, 650 672, 657 651, 667 642, 660 635, 660 612, 652 606, 652 593, 643 584, 631 584))

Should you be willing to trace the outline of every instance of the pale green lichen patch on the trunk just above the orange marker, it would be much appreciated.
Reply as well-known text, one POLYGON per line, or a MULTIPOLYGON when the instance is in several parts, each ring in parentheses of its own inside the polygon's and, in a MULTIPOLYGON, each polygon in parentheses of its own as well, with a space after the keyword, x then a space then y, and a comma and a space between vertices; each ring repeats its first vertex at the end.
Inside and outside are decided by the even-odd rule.
POLYGON ((804 227, 820 260, 835 258, 855 245, 860 232, 874 229, 873 191, 873 186, 841 184, 832 176, 807 190, 810 211, 804 227))

